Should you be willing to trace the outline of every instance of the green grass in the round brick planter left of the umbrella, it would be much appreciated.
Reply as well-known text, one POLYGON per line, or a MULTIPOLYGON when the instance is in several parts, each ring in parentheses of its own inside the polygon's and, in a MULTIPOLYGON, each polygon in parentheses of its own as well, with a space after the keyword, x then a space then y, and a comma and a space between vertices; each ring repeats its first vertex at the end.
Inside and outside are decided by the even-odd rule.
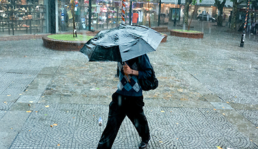
POLYGON ((55 34, 55 35, 49 35, 48 38, 55 39, 55 40, 68 40, 68 41, 88 41, 93 36, 87 36, 87 35, 81 35, 77 34, 77 38, 73 37, 73 34, 55 34))

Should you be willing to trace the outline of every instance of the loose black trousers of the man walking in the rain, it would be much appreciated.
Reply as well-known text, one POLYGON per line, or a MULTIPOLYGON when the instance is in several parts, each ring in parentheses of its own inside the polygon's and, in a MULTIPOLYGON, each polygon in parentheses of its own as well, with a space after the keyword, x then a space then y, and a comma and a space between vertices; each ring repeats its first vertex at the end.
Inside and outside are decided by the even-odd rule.
POLYGON ((101 135, 97 149, 110 149, 112 147, 125 116, 132 121, 142 141, 150 140, 148 122, 143 113, 143 106, 143 96, 123 96, 114 93, 109 105, 107 126, 101 135))

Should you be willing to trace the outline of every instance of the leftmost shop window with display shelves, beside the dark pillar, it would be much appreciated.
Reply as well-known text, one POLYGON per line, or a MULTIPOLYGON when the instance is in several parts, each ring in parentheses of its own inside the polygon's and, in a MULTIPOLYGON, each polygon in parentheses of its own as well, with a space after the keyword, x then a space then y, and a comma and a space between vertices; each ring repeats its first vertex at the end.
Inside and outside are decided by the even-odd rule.
POLYGON ((46 33, 46 6, 43 0, 1 0, 1 36, 46 33))

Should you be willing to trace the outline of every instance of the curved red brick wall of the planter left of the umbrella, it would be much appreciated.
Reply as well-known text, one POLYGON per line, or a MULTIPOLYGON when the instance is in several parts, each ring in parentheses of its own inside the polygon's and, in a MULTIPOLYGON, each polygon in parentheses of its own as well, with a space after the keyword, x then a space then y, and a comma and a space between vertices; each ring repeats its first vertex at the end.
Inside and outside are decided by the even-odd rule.
MULTIPOLYGON (((95 36, 99 31, 95 32, 80 32, 78 34, 86 34, 87 36, 95 36)), ((87 41, 67 41, 67 40, 56 40, 48 38, 47 36, 42 37, 43 45, 46 48, 53 50, 62 51, 79 51, 86 44, 87 41)))

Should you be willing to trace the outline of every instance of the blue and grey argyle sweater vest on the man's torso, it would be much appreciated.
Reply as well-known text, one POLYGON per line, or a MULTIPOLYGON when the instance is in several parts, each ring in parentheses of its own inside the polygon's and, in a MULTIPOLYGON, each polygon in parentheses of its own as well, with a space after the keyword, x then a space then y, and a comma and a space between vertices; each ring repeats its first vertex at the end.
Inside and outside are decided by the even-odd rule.
MULTIPOLYGON (((127 62, 128 66, 130 66, 133 70, 138 70, 137 62, 135 59, 127 62)), ((118 62, 119 68, 119 83, 118 90, 116 91, 119 94, 125 96, 142 96, 142 88, 139 85, 138 77, 135 75, 128 75, 128 77, 124 74, 123 65, 121 62, 118 62), (130 80, 130 82, 129 82, 130 80)))

